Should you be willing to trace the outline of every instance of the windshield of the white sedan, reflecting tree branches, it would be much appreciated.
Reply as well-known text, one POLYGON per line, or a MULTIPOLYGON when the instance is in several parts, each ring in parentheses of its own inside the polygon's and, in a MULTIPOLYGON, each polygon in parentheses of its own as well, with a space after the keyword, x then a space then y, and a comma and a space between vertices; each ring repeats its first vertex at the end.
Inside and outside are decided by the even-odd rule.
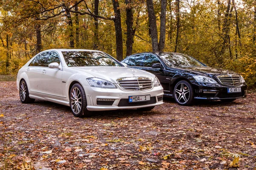
POLYGON ((106 53, 96 51, 62 51, 68 67, 115 66, 121 67, 106 53))

